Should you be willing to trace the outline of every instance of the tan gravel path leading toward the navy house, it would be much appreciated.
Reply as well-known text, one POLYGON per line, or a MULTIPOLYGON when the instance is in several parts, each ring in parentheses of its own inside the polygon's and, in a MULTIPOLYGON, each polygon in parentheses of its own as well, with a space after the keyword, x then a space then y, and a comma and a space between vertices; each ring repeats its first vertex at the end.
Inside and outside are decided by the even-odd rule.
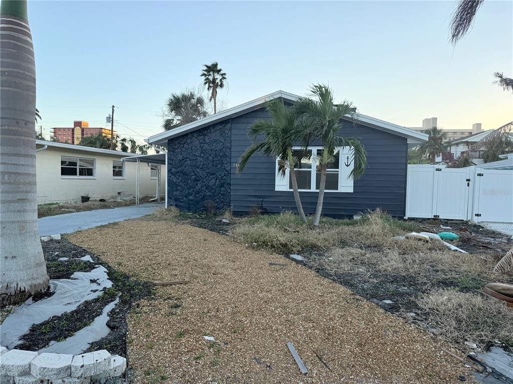
POLYGON ((458 353, 447 344, 275 253, 146 219, 69 238, 137 279, 191 281, 157 287, 133 306, 127 342, 135 382, 450 383, 461 382, 459 375, 472 381, 460 361, 442 352, 458 353))

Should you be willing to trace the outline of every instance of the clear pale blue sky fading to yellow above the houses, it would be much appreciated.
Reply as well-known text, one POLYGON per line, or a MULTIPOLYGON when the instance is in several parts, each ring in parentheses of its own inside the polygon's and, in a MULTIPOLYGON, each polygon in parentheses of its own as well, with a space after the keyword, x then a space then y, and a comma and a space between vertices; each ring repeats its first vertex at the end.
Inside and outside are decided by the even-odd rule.
POLYGON ((228 75, 226 107, 325 82, 361 113, 405 126, 483 129, 513 120, 512 2, 487 1, 470 33, 448 42, 455 2, 29 2, 37 106, 53 126, 161 131, 171 92, 198 88, 204 63, 228 75))

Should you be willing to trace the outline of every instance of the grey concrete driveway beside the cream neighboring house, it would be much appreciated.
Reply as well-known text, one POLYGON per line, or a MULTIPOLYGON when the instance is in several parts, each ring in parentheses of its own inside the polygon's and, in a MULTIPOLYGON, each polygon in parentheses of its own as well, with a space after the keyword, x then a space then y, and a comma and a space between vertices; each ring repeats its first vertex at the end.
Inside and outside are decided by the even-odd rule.
POLYGON ((162 207, 164 207, 164 204, 146 203, 43 217, 41 219, 37 219, 39 236, 49 236, 57 233, 71 233, 80 229, 87 229, 97 227, 98 225, 134 219, 149 215, 156 208, 162 207))

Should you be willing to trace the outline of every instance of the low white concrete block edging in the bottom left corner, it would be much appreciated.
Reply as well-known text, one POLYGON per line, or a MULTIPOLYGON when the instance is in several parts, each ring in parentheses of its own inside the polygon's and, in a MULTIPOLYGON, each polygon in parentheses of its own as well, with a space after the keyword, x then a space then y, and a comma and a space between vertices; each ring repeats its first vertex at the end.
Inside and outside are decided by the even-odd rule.
POLYGON ((120 378, 126 368, 126 358, 106 350, 73 356, 0 349, 2 384, 88 384, 120 378))

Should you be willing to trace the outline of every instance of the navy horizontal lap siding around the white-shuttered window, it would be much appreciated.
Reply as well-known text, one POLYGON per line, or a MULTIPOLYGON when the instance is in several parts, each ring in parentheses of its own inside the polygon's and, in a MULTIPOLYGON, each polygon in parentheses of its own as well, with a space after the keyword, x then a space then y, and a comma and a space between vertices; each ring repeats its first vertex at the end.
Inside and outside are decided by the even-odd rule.
MULTIPOLYGON (((231 120, 231 207, 247 212, 264 206, 268 212, 296 210, 291 191, 274 190, 275 164, 272 157, 255 155, 243 173, 236 163, 251 144, 247 132, 258 119, 269 119, 264 109, 255 110, 231 120)), ((326 192, 323 213, 330 216, 356 215, 367 209, 382 208, 393 216, 404 217, 406 192, 406 139, 365 125, 343 122, 341 136, 358 137, 367 151, 365 174, 354 181, 353 193, 326 192)), ((313 143, 320 145, 320 143, 313 143)), ((307 214, 313 214, 318 194, 300 193, 307 214)))

